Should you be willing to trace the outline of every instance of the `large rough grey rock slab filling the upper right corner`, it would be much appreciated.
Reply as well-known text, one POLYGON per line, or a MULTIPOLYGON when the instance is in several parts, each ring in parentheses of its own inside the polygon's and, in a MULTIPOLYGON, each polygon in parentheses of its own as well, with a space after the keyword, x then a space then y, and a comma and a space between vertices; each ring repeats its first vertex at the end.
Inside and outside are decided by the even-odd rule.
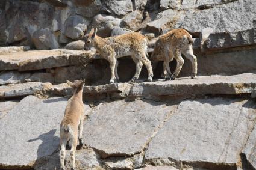
POLYGON ((255 1, 239 0, 207 10, 188 10, 178 20, 175 28, 185 28, 198 35, 206 27, 213 28, 213 32, 251 29, 256 14, 255 6, 255 1))

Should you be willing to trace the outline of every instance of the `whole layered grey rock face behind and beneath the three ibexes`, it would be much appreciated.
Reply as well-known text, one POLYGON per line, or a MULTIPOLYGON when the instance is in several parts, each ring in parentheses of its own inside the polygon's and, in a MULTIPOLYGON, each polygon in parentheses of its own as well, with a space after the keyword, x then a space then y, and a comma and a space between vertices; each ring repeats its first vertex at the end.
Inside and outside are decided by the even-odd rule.
POLYGON ((60 168, 66 79, 86 79, 77 169, 256 169, 255 16, 255 0, 1 1, 0 169, 60 168), (160 79, 160 62, 153 82, 143 67, 128 83, 125 57, 109 85, 108 62, 82 50, 92 26, 101 37, 185 28, 198 77, 184 59, 174 81, 160 79))

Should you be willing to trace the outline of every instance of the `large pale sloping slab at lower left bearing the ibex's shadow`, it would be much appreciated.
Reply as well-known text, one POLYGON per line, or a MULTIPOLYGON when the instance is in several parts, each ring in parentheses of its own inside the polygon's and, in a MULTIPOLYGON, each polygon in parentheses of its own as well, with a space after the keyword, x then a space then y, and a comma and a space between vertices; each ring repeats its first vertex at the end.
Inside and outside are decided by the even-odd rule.
POLYGON ((57 150, 60 120, 66 105, 65 98, 42 100, 28 96, 9 111, 0 120, 1 166, 31 166, 37 159, 57 150), (51 108, 51 111, 45 108, 51 108))

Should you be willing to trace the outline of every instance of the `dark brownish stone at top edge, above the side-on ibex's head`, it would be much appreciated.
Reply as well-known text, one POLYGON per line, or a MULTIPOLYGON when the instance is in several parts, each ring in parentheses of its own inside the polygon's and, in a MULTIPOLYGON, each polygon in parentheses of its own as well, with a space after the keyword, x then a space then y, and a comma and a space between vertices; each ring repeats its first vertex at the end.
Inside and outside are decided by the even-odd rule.
POLYGON ((87 6, 79 5, 77 8, 75 8, 76 14, 84 17, 93 17, 98 14, 101 9, 102 4, 100 0, 93 1, 92 4, 87 6))

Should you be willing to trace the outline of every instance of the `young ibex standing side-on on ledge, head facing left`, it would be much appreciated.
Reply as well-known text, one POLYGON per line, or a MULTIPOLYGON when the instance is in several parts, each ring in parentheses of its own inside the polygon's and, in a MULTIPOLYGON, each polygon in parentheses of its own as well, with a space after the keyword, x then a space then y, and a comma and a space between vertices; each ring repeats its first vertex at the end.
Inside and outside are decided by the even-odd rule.
POLYGON ((146 37, 140 33, 134 32, 116 37, 101 38, 96 35, 96 32, 97 28, 93 28, 89 34, 84 35, 84 49, 89 50, 91 47, 95 47, 95 49, 108 60, 111 70, 110 83, 119 81, 117 74, 117 58, 129 55, 131 55, 131 58, 136 64, 136 73, 131 79, 131 82, 135 82, 139 78, 143 64, 148 70, 148 81, 152 81, 153 71, 151 62, 147 58, 148 39, 146 37))

